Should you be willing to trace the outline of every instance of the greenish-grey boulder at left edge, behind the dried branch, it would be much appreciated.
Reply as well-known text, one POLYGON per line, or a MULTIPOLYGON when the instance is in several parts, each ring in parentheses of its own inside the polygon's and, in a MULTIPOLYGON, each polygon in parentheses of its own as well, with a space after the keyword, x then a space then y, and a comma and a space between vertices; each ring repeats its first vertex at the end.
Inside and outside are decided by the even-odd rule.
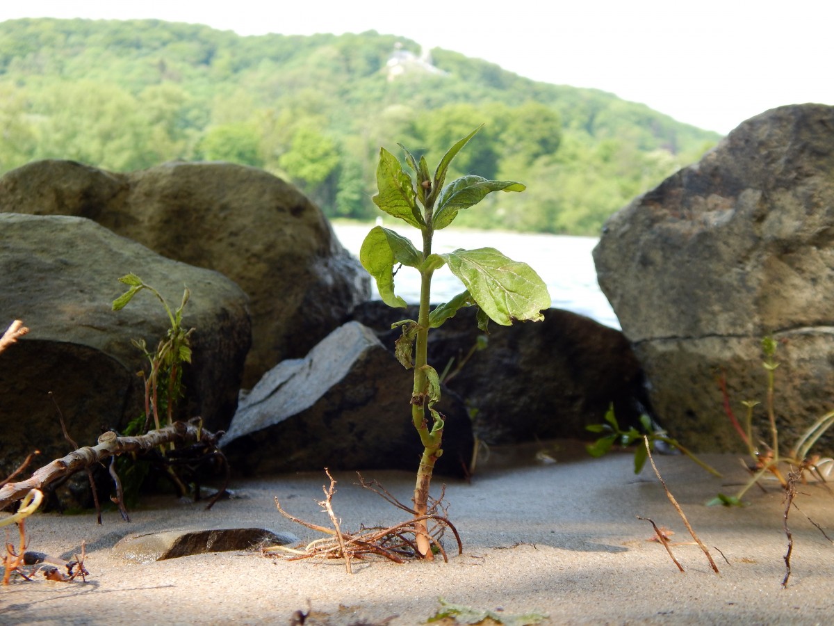
POLYGON ((211 430, 229 425, 251 341, 246 295, 224 275, 166 259, 90 220, 0 214, 0 311, 30 332, 0 353, 0 477, 34 449, 63 457, 53 392, 69 434, 80 446, 103 428, 122 429, 144 411, 145 356, 168 316, 149 292, 120 311, 118 277, 135 272, 173 308, 191 290, 183 324, 194 327, 193 364, 184 373, 184 416, 203 416, 211 430))

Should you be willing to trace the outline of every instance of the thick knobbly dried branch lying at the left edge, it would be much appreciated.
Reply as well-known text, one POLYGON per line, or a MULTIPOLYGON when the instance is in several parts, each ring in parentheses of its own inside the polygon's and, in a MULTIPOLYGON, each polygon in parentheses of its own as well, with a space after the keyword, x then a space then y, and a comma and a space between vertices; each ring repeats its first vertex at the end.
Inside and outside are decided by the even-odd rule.
POLYGON ((136 437, 118 437, 113 431, 105 432, 98 437, 97 446, 78 448, 66 457, 55 459, 48 465, 40 467, 27 480, 9 482, 0 488, 0 510, 20 500, 31 489, 43 489, 58 478, 78 472, 85 467, 91 467, 94 463, 108 457, 125 452, 148 452, 153 447, 172 442, 180 445, 195 441, 209 442, 214 446, 216 443, 214 434, 200 428, 198 423, 199 418, 194 417, 188 423, 174 422, 170 426, 136 437))

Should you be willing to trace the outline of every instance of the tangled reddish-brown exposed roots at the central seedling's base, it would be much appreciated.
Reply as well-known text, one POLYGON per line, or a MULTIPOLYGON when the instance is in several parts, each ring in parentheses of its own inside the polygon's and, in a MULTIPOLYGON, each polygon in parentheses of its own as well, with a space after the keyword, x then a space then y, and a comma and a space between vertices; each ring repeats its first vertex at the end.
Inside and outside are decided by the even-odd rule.
MULTIPOLYGON (((325 472, 327 472, 325 470, 325 472)), ((458 546, 458 553, 463 553, 463 543, 460 541, 455 526, 449 521, 446 516, 445 507, 442 504, 443 496, 440 499, 430 502, 429 511, 422 516, 416 516, 409 519, 407 522, 395 524, 388 528, 374 527, 361 528, 356 533, 344 533, 339 528, 339 521, 333 512, 332 498, 335 493, 336 481, 330 473, 327 472, 330 479, 330 487, 322 487, 324 491, 324 501, 319 504, 324 507, 325 512, 330 517, 330 522, 333 523, 334 528, 325 528, 318 524, 309 523, 298 517, 294 517, 289 512, 284 511, 281 507, 279 499, 275 498, 275 507, 287 519, 298 523, 306 528, 310 528, 319 533, 327 535, 327 537, 319 538, 311 543, 308 543, 304 548, 289 548, 287 546, 271 546, 262 548, 261 553, 264 556, 274 555, 276 553, 283 553, 284 558, 289 561, 296 561, 304 558, 324 557, 324 558, 342 558, 345 561, 345 568, 348 573, 351 573, 350 560, 364 559, 372 556, 379 556, 387 558, 394 563, 405 563, 407 559, 422 558, 420 551, 417 548, 416 536, 421 531, 418 524, 421 522, 430 523, 429 539, 432 546, 433 553, 439 553, 444 561, 448 561, 448 555, 441 539, 446 531, 449 529, 455 536, 455 542, 458 546), (442 514, 439 513, 442 512, 442 514)), ((386 502, 389 502, 394 507, 402 509, 411 515, 416 515, 414 510, 405 506, 402 502, 394 497, 390 492, 386 491, 384 487, 379 485, 376 481, 365 482, 359 476, 359 481, 362 487, 382 497, 386 502)))

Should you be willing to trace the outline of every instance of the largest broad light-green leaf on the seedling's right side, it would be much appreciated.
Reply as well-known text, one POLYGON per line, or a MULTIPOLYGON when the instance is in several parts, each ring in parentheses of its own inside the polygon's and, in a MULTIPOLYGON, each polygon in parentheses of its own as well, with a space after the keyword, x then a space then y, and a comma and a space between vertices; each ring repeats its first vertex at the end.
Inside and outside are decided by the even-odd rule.
POLYGON ((530 265, 510 260, 495 248, 441 256, 491 320, 510 326, 513 320, 545 319, 540 311, 550 308, 550 294, 530 265))

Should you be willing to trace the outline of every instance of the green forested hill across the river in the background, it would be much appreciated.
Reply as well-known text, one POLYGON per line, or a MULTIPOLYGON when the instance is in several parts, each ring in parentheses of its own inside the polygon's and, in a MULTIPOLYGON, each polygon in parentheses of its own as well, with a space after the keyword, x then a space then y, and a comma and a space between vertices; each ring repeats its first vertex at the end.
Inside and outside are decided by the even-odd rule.
MULTIPOLYGON (((554 63, 568 63, 554 59, 554 63)), ((34 159, 143 169, 224 159, 292 180, 330 216, 376 215, 379 146, 515 179, 456 224, 598 232, 716 143, 644 105, 537 83, 393 35, 310 37, 155 20, 0 23, 0 174, 34 159), (495 196, 495 198, 493 197, 495 196)))

